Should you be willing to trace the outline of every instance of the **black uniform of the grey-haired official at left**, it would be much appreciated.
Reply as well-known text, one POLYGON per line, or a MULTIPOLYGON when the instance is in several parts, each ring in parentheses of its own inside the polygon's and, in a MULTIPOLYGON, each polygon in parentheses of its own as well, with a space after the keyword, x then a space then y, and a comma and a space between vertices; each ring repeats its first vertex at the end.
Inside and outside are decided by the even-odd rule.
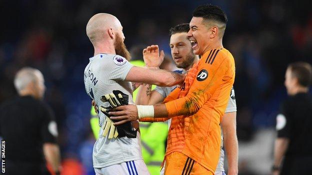
POLYGON ((56 143, 50 108, 31 96, 16 97, 0 107, 0 136, 5 140, 5 175, 49 175, 44 143, 56 143))

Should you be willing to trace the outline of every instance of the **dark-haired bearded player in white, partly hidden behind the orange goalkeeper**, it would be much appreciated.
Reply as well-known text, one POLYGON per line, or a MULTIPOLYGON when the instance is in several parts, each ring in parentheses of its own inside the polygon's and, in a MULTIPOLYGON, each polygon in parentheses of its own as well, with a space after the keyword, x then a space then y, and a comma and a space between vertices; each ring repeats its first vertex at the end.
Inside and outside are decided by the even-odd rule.
MULTIPOLYGON (((198 56, 193 54, 190 42, 186 36, 189 30, 189 24, 179 24, 170 28, 170 43, 171 56, 179 72, 188 71, 194 63, 199 59, 198 56)), ((137 103, 139 105, 154 105, 162 103, 164 98, 173 91, 176 86, 172 87, 159 87, 156 86, 151 90, 149 85, 141 85, 137 96, 137 103)), ((168 120, 170 123, 171 119, 168 120)), ((236 136, 236 101, 234 89, 230 93, 228 104, 225 114, 221 121, 221 136, 224 137, 225 152, 228 159, 228 175, 237 175, 237 155, 238 155, 238 142, 236 136)), ((221 137, 223 141, 223 137, 221 137)), ((215 170, 215 175, 224 175, 224 151, 222 149, 223 142, 221 142, 220 158, 215 170)), ((162 169, 164 170, 164 169, 162 169)), ((163 174, 163 172, 162 172, 163 174)))

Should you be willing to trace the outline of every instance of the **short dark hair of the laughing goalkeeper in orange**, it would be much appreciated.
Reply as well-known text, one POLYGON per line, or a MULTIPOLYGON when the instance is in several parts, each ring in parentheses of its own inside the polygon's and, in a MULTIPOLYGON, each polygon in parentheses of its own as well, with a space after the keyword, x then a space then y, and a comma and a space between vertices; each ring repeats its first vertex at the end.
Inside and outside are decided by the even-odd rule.
POLYGON ((216 20, 218 22, 226 24, 227 17, 225 12, 216 5, 205 4, 197 6, 193 13, 193 17, 202 17, 206 20, 216 20))

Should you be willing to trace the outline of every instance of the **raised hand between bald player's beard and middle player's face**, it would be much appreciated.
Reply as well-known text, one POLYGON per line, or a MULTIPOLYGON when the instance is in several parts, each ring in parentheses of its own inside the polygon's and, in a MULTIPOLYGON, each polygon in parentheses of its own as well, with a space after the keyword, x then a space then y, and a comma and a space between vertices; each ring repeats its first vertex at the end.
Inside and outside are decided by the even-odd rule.
POLYGON ((143 49, 143 59, 146 67, 159 67, 163 61, 164 53, 160 51, 158 45, 151 45, 143 49))

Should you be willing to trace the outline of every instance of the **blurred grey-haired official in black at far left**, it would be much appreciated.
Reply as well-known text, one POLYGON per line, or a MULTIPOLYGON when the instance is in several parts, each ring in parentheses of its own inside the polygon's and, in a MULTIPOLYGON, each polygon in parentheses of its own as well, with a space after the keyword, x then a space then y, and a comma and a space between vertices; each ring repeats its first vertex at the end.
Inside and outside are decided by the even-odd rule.
POLYGON ((5 175, 49 175, 45 160, 59 174, 57 128, 51 109, 41 99, 44 79, 33 68, 14 78, 18 97, 0 107, 0 136, 5 140, 5 175))

